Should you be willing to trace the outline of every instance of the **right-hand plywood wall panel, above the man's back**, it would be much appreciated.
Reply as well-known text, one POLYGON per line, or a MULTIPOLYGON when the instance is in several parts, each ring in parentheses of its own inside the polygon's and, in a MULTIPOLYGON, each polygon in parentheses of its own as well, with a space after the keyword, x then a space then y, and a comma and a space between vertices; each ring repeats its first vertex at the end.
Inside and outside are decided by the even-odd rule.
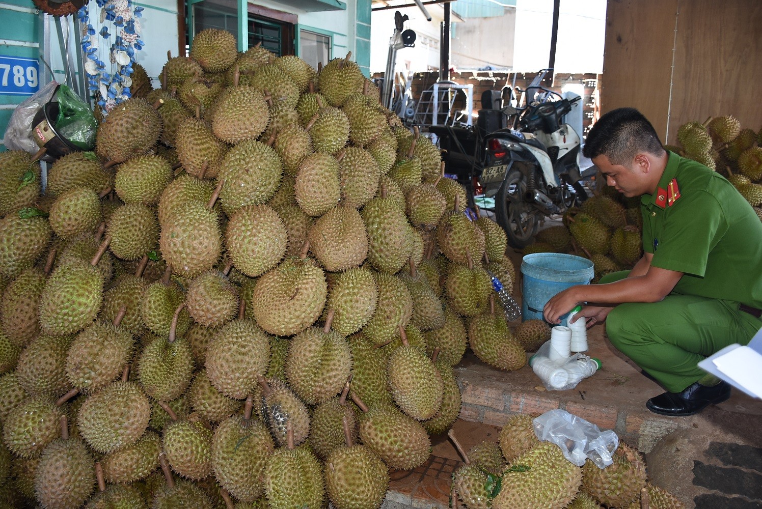
POLYGON ((680 124, 731 114, 762 124, 762 2, 679 0, 669 139, 680 124))

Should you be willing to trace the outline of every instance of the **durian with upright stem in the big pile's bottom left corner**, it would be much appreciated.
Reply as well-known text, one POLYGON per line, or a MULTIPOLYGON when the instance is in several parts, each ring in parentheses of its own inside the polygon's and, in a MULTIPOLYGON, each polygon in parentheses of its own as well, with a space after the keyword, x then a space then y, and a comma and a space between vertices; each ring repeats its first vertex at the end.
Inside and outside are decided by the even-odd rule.
POLYGON ((61 438, 50 443, 34 473, 34 495, 43 507, 80 507, 94 489, 93 457, 79 437, 69 437, 66 417, 61 438))

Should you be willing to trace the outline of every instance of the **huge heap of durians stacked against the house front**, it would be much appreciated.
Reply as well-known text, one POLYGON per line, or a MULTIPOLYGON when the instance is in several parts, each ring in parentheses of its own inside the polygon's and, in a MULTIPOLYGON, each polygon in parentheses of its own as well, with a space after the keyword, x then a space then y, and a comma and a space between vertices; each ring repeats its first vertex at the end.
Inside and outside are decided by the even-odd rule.
POLYGON ((379 507, 459 415, 467 345, 516 370, 506 238, 349 56, 222 30, 42 193, 0 154, 2 507, 379 507))

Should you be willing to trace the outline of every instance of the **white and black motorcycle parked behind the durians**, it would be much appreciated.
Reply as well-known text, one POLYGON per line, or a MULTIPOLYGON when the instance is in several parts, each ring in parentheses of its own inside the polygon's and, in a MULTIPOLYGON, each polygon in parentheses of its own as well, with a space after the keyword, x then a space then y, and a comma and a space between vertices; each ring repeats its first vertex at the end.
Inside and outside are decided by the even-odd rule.
POLYGON ((486 122, 476 130, 429 127, 446 151, 446 168, 469 190, 471 204, 495 200, 496 219, 514 248, 530 244, 546 216, 565 213, 588 197, 578 165, 581 139, 564 123, 581 98, 563 98, 540 86, 548 70, 523 91, 527 97, 538 94, 527 107, 479 110, 479 120, 503 115, 512 119, 510 127, 485 130, 486 122))

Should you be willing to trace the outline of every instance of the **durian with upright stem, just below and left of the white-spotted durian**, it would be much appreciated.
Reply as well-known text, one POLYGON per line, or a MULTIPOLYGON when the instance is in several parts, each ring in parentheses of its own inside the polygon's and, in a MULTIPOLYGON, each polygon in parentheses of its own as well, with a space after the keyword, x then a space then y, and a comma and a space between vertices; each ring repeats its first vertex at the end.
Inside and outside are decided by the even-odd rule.
POLYGON ((219 423, 212 440, 214 475, 230 495, 254 502, 264 495, 261 480, 275 446, 267 427, 251 418, 254 405, 246 400, 244 415, 232 415, 219 423))

